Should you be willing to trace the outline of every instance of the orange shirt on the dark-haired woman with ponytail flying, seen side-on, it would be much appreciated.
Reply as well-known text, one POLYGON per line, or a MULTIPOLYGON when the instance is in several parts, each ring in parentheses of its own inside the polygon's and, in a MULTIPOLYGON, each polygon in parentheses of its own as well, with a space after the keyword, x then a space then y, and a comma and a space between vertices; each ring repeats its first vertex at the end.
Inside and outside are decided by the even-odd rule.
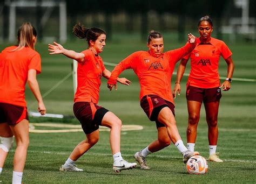
POLYGON ((82 52, 84 62, 77 67, 77 91, 74 102, 98 103, 102 72, 105 70, 102 58, 91 49, 82 52))

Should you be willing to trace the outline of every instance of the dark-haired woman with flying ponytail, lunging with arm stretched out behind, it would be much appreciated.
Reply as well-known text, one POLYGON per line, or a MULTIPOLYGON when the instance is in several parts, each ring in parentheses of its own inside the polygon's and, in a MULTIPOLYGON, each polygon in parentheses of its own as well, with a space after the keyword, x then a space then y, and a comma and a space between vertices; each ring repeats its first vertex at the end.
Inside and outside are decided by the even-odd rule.
MULTIPOLYGON (((78 61, 77 68, 77 91, 75 94, 73 111, 86 134, 86 139, 81 141, 70 154, 60 171, 83 171, 75 166, 75 161, 88 151, 99 140, 99 125, 110 128, 110 147, 113 154, 113 171, 120 172, 124 169, 135 167, 136 163, 130 163, 122 158, 120 153, 120 133, 122 122, 109 110, 100 107, 99 86, 101 77, 109 79, 111 72, 104 67, 102 58, 99 56, 106 45, 106 32, 102 29, 87 29, 77 24, 73 27, 73 33, 82 39, 86 39, 89 48, 81 53, 67 50, 62 45, 49 44, 50 54, 63 54, 68 58, 78 61)), ((130 81, 125 78, 118 82, 129 85, 130 81)))

